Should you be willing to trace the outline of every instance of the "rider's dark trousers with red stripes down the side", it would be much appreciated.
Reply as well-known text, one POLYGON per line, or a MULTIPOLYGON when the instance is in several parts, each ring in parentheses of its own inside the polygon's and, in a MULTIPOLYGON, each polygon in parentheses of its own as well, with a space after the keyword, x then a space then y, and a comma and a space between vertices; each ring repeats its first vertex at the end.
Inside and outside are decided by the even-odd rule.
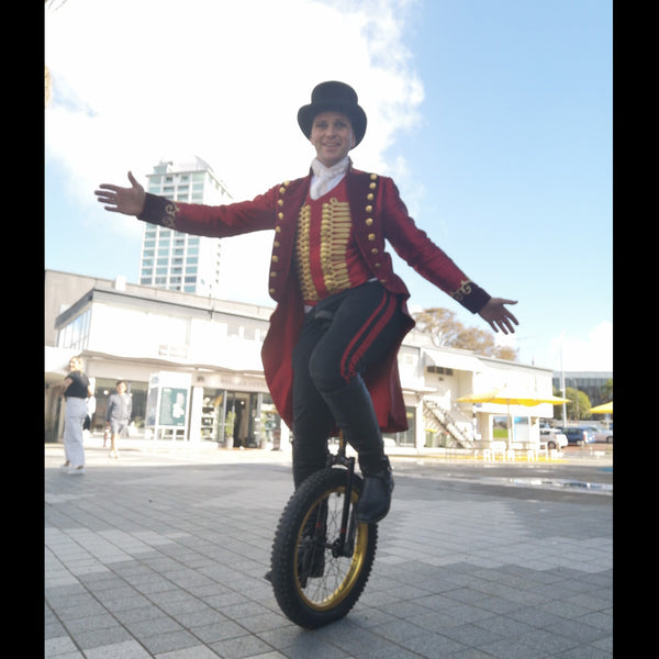
MULTIPOLYGON (((298 488, 325 466, 327 439, 338 420, 327 404, 396 340, 404 322, 401 301, 379 282, 367 282, 326 298, 306 313, 293 350, 293 481, 298 488)), ((366 395, 350 413, 375 418, 366 395)), ((358 451, 381 450, 379 428, 358 451), (376 435, 377 433, 377 435, 376 435)))

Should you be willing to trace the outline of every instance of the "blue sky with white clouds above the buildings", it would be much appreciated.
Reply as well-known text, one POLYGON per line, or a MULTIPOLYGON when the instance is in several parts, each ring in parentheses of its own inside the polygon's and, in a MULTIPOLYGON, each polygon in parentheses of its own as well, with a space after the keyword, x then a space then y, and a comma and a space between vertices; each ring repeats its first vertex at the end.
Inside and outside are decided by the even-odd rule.
MULTIPOLYGON (((305 176, 323 80, 368 116, 355 167, 491 295, 522 364, 613 370, 612 0, 49 0, 44 267, 138 282, 143 223, 96 201, 160 160, 235 201, 305 176)), ((223 244, 220 297, 273 306, 269 232, 223 244)), ((393 252, 390 248, 390 252, 393 252)), ((394 256, 412 311, 489 331, 394 256)))

